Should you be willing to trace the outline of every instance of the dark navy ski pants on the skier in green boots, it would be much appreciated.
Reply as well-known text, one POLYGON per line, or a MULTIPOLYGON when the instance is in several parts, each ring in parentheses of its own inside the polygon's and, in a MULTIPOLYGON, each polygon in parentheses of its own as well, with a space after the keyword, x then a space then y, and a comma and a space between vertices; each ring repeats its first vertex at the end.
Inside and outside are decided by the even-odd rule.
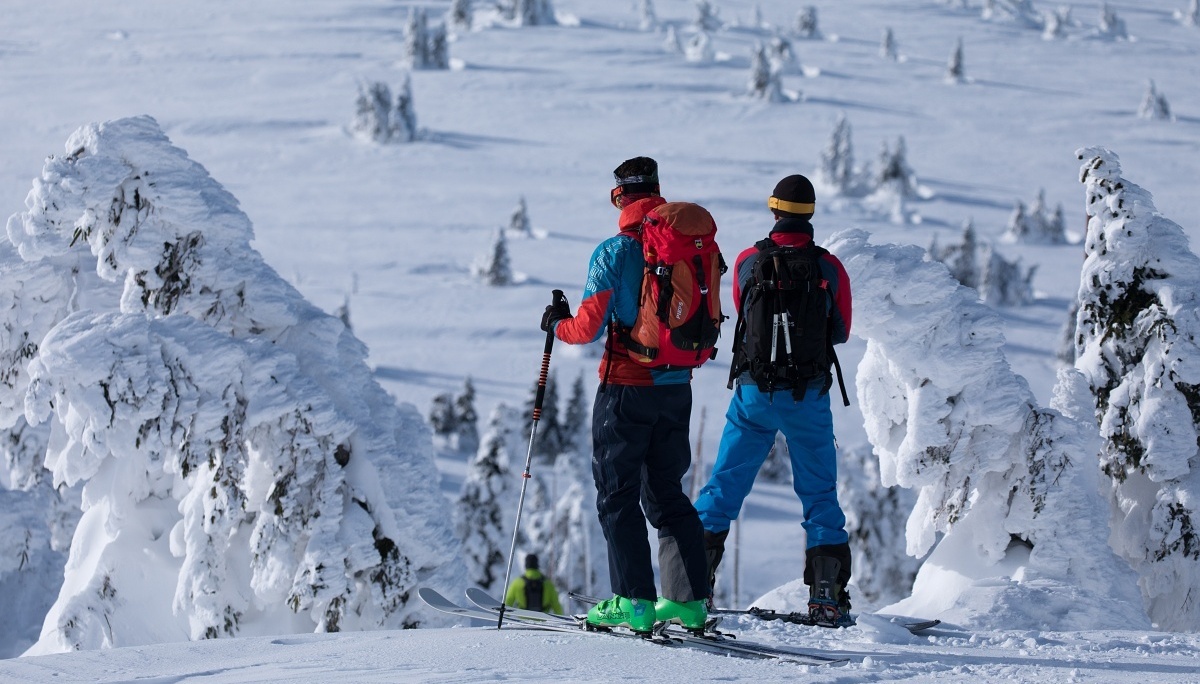
POLYGON ((592 474, 608 542, 614 594, 654 601, 654 568, 646 529, 659 532, 662 596, 708 596, 704 528, 683 491, 691 463, 691 385, 600 385, 592 414, 592 474), (643 512, 644 511, 644 512, 643 512))

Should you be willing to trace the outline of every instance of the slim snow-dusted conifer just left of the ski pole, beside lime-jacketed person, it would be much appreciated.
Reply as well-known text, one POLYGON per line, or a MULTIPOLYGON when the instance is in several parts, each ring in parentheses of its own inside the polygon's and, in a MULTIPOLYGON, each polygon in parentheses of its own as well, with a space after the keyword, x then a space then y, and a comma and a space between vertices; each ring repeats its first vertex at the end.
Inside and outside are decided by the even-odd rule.
POLYGON ((512 530, 509 517, 516 515, 510 506, 514 498, 510 463, 518 422, 516 412, 504 403, 492 410, 455 509, 455 530, 462 540, 467 580, 484 589, 494 588, 493 593, 503 589, 512 530))

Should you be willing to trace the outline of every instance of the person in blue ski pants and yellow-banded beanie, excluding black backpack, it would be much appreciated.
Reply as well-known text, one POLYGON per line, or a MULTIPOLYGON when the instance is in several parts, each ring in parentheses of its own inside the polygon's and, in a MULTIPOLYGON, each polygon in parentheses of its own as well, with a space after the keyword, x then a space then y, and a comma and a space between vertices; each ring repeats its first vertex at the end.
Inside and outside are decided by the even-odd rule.
MULTIPOLYGON (((749 317, 748 299, 742 293, 751 286, 760 253, 776 247, 804 250, 812 246, 812 217, 816 196, 812 184, 803 175, 779 181, 768 199, 775 217, 769 241, 743 251, 734 262, 733 298, 742 318, 749 317)), ((850 337, 850 277, 836 257, 818 251, 820 288, 828 293, 826 319, 829 350, 850 337)), ((770 335, 774 335, 772 332, 770 335)), ((738 342, 734 342, 736 344, 738 342)), ((846 516, 838 503, 838 461, 829 408, 832 371, 826 367, 811 380, 786 380, 763 391, 745 370, 748 364, 736 353, 733 360, 734 392, 726 412, 716 462, 707 485, 696 499, 696 511, 704 526, 709 583, 715 584, 716 566, 725 552, 730 524, 738 517, 750 493, 758 469, 782 432, 792 464, 796 494, 804 506, 806 550, 804 582, 809 586, 809 612, 821 624, 851 624, 850 538, 846 516), (800 386, 794 386, 799 384, 800 386)))

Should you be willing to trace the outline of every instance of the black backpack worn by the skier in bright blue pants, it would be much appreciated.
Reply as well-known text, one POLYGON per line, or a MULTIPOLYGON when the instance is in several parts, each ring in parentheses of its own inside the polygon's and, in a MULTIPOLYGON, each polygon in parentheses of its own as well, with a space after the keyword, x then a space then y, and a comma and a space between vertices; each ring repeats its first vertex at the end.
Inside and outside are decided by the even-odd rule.
POLYGON ((769 238, 755 247, 758 253, 738 306, 728 386, 749 373, 758 390, 791 390, 799 401, 816 378, 824 378, 822 394, 829 390, 833 366, 842 402, 850 406, 833 350, 833 296, 818 263, 829 252, 816 245, 784 247, 769 238))

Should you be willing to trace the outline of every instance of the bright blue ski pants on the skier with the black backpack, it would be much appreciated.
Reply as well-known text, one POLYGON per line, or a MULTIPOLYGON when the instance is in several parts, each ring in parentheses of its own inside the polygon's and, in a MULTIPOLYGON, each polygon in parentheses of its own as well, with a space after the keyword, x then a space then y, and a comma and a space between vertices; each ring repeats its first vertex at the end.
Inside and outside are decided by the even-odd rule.
POLYGON ((846 544, 846 516, 838 503, 838 454, 834 446, 829 394, 809 389, 796 401, 790 390, 768 395, 754 384, 738 384, 725 414, 725 431, 713 475, 700 491, 696 510, 708 532, 724 532, 738 517, 775 444, 787 439, 792 485, 804 506, 808 547, 846 544))

